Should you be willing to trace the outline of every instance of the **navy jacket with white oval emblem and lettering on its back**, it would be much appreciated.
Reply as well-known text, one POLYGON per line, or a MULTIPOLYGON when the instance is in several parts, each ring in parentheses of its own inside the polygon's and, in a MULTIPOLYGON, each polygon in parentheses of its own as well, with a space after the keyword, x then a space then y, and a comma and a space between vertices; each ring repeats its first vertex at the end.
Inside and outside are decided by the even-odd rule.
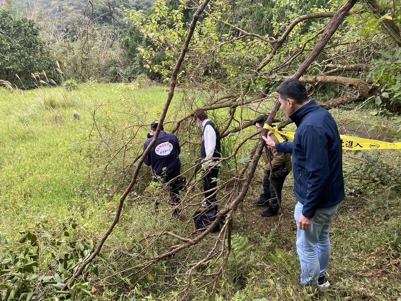
MULTIPOLYGON (((144 150, 153 140, 153 137, 145 142, 144 150)), ((178 155, 181 152, 177 136, 160 132, 156 144, 146 156, 145 164, 152 167, 153 174, 161 176, 165 168, 165 176, 171 178, 180 174, 181 162, 178 155)))

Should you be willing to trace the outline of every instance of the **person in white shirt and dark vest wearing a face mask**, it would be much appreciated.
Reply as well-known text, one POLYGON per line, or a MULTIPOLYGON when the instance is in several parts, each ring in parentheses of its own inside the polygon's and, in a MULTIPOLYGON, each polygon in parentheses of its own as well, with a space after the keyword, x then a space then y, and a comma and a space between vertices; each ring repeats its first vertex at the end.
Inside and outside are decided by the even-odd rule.
POLYGON ((217 161, 222 157, 220 145, 220 132, 216 125, 208 119, 204 110, 196 109, 192 114, 195 124, 202 128, 202 144, 200 146, 200 158, 203 159, 205 168, 203 188, 206 202, 202 204, 211 210, 218 210, 217 207, 217 178, 219 176, 219 167, 217 161))

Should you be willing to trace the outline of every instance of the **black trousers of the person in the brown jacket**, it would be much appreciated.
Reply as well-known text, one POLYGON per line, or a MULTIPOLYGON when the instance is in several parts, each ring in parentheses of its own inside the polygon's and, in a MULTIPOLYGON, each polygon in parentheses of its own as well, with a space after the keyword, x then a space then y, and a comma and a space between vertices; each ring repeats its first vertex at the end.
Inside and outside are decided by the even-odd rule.
POLYGON ((270 183, 270 175, 265 175, 263 178, 263 193, 260 194, 259 200, 266 202, 270 200, 269 208, 273 212, 277 212, 281 206, 281 191, 283 190, 284 181, 289 172, 284 172, 280 177, 274 178, 270 183), (274 188, 277 190, 278 199, 274 188))

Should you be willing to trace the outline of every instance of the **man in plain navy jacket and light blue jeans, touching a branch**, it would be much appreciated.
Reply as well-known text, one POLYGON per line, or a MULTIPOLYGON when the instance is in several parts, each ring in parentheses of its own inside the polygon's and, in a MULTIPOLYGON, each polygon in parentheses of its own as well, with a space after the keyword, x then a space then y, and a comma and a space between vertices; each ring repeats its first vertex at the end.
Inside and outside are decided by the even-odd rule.
POLYGON ((297 125, 295 139, 276 143, 269 136, 262 138, 277 152, 292 153, 300 282, 325 287, 330 285, 325 279, 330 222, 345 198, 341 139, 331 114, 314 100, 308 101, 297 78, 285 80, 276 91, 281 108, 297 125))

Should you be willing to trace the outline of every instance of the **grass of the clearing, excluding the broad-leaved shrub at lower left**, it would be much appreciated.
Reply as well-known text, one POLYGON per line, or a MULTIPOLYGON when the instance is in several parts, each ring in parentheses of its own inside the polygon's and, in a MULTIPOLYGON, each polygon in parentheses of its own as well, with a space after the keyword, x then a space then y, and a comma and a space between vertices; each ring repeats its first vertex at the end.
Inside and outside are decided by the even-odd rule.
MULTIPOLYGON (((163 87, 137 88, 134 84, 91 83, 73 91, 62 87, 31 91, 0 89, 1 239, 8 238, 17 244, 21 236, 19 231, 38 228, 57 236, 64 224, 75 221, 78 227, 70 231, 74 236, 97 242, 113 219, 119 195, 130 180, 126 177, 120 182, 116 180, 117 176, 113 177, 113 172, 141 152, 147 129, 140 129, 138 137, 141 138, 129 144, 128 163, 121 163, 121 156, 117 157, 116 163, 100 181, 110 159, 108 154, 130 137, 132 124, 150 124, 158 119, 166 97, 163 87), (73 120, 76 113, 81 120, 73 120), (97 124, 93 122, 94 114, 97 124)), ((174 99, 167 121, 185 114, 179 97, 180 94, 174 99)), ((226 113, 221 110, 218 114, 226 113)), ((399 129, 392 127, 391 120, 372 116, 369 112, 333 110, 332 113, 342 132, 360 133, 361 129, 366 129, 365 134, 372 138, 400 137, 399 129)), ((244 111, 245 118, 250 116, 251 110, 244 111)), ((252 130, 249 128, 239 137, 232 138, 231 143, 240 141, 252 130)), ((190 138, 198 139, 195 135, 190 138)), ((253 143, 247 144, 244 156, 253 143)), ((198 146, 185 145, 183 164, 189 166, 192 158, 197 156, 198 146)), ((237 254, 246 256, 247 260, 234 254, 217 294, 211 296, 210 289, 205 288, 194 291, 191 298, 399 300, 400 157, 399 150, 375 154, 344 153, 347 197, 332 226, 331 288, 312 292, 298 287, 299 263, 291 216, 295 205, 292 179, 285 186, 283 207, 286 213, 276 233, 277 219, 265 223, 250 206, 260 192, 260 169, 244 202, 247 218, 243 217, 244 212, 238 211, 234 223, 235 241, 240 245, 237 254), (364 165, 366 168, 362 168, 364 165), (353 176, 374 181, 366 183, 352 179, 353 176), (378 184, 380 182, 382 185, 378 184)), ((134 192, 139 194, 147 183, 141 180, 134 192)), ((99 264, 100 275, 92 278, 99 288, 93 299, 174 299, 175 291, 181 285, 182 279, 174 282, 174 279, 162 276, 163 271, 176 266, 174 260, 158 263, 152 276, 138 280, 136 286, 131 285, 135 275, 127 275, 116 285, 102 279, 102 276, 123 269, 121 250, 129 253, 142 237, 139 232, 164 225, 155 223, 146 202, 135 203, 135 200, 138 200, 135 196, 127 200, 121 221, 106 242, 103 254, 109 263, 99 264), (161 282, 177 285, 156 284, 153 278, 157 280, 158 276, 161 282)), ((177 228, 181 226, 177 222, 177 228)), ((149 253, 155 255, 157 251, 154 247, 149 253)), ((180 256, 177 261, 184 260, 185 256, 180 256)), ((50 261, 50 257, 45 258, 42 265, 46 267, 50 261)))

